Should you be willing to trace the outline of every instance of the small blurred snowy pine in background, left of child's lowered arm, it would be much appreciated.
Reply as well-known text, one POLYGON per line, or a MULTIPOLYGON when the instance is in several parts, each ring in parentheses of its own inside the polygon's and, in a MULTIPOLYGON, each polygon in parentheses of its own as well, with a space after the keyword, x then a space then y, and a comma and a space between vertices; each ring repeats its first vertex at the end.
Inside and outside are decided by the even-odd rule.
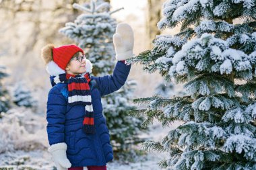
POLYGON ((16 105, 26 108, 36 106, 36 100, 33 99, 31 91, 26 87, 25 83, 16 83, 13 88, 12 100, 16 105))

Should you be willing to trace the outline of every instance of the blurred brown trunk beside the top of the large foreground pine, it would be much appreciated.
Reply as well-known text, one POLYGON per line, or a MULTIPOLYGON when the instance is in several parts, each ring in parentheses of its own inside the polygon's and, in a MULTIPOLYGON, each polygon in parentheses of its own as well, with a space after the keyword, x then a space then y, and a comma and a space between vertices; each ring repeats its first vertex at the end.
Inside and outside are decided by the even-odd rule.
POLYGON ((148 0, 148 18, 147 18, 147 34, 150 44, 148 46, 152 48, 152 40, 156 38, 156 35, 160 34, 160 30, 156 26, 161 18, 161 8, 163 0, 148 0))

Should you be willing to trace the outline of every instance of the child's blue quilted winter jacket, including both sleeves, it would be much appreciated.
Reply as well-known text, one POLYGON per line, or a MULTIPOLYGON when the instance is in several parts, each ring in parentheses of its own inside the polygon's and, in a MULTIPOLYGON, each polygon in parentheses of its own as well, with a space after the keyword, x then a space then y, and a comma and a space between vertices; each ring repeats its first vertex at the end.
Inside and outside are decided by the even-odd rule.
POLYGON ((71 167, 103 166, 113 159, 110 135, 106 119, 102 115, 101 96, 120 89, 129 75, 130 65, 118 61, 113 75, 91 77, 90 91, 94 109, 95 134, 86 134, 82 129, 85 107, 67 105, 67 83, 55 85, 51 77, 52 89, 47 101, 47 133, 49 144, 65 142, 67 159, 71 167))

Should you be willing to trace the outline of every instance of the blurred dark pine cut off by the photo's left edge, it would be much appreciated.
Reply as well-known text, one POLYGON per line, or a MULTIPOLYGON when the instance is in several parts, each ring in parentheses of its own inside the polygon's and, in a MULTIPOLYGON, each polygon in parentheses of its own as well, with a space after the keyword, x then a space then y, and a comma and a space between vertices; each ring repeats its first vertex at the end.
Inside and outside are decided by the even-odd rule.
POLYGON ((1 83, 1 80, 3 78, 7 77, 7 73, 5 73, 5 67, 0 66, 0 113, 1 112, 7 112, 9 109, 9 99, 7 97, 7 89, 3 87, 3 83, 1 83))

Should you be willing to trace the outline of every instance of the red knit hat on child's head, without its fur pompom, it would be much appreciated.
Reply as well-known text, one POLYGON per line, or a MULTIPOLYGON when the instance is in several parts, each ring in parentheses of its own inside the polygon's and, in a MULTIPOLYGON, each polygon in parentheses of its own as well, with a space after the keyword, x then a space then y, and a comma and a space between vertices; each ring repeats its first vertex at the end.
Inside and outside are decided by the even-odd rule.
POLYGON ((72 44, 53 48, 53 61, 56 62, 61 69, 65 70, 69 60, 77 52, 82 52, 84 54, 82 48, 72 44))

